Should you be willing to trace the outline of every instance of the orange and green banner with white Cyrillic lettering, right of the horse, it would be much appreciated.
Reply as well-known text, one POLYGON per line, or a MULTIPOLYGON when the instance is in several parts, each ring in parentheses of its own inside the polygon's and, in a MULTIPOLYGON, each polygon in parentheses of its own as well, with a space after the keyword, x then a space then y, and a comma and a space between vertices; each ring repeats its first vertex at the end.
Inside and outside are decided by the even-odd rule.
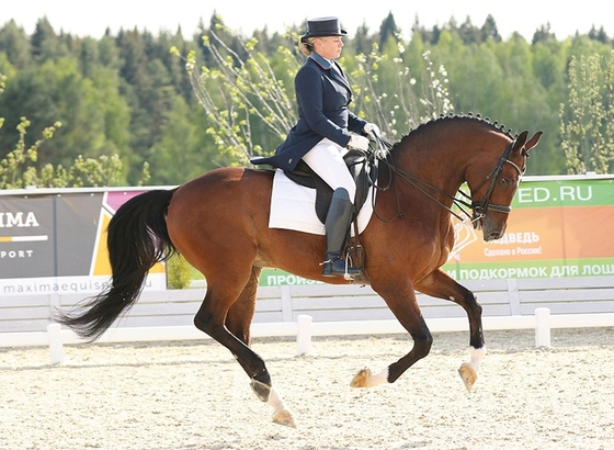
POLYGON ((457 280, 614 275, 614 181, 521 183, 501 239, 456 224, 444 269, 457 280))

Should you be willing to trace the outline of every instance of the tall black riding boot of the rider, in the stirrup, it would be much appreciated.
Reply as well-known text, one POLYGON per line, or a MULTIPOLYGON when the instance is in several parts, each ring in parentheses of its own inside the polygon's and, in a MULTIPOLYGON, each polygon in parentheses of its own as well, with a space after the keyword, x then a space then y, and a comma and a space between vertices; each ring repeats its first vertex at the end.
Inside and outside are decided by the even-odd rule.
POLYGON ((345 273, 356 275, 361 273, 356 268, 350 266, 345 268, 345 260, 341 256, 352 223, 353 212, 354 205, 348 191, 344 188, 336 189, 325 222, 327 252, 322 262, 323 277, 344 275, 345 273))

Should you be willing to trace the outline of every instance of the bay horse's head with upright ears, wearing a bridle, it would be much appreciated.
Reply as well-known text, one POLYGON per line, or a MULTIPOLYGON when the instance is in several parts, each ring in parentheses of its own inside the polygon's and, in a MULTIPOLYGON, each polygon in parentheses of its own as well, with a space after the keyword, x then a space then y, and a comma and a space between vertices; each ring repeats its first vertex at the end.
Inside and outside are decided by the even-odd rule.
POLYGON ((528 132, 522 132, 510 142, 497 162, 489 159, 490 162, 477 165, 478 168, 471 170, 475 179, 467 177, 471 191, 474 227, 481 228, 487 243, 501 238, 505 233, 508 216, 512 211, 510 205, 526 170, 528 151, 537 145, 542 132, 535 133, 528 140, 527 135, 528 132), (487 165, 490 167, 486 167, 487 165))

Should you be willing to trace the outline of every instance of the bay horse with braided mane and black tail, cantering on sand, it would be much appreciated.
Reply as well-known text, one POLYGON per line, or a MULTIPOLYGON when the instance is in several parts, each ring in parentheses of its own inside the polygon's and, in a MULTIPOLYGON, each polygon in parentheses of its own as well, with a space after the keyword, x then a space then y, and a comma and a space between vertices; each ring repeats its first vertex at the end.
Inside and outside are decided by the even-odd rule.
MULTIPOLYGON (((463 307, 469 320, 469 357, 459 373, 470 390, 486 352, 481 306, 441 267, 454 246, 452 207, 466 183, 474 226, 486 241, 503 236, 510 205, 542 132, 512 136, 473 115, 433 119, 419 125, 380 162, 374 216, 360 235, 366 282, 386 302, 413 339, 409 353, 379 373, 361 370, 354 387, 394 383, 424 358, 432 336, 414 291, 463 307)), ((264 360, 250 348, 262 268, 306 279, 349 283, 321 275, 325 238, 269 228, 271 170, 220 168, 172 190, 139 194, 113 216, 107 228, 111 285, 55 319, 95 340, 137 301, 149 269, 178 251, 206 279, 195 326, 226 347, 250 378, 258 396, 274 408, 273 421, 295 426, 273 386, 264 360)))

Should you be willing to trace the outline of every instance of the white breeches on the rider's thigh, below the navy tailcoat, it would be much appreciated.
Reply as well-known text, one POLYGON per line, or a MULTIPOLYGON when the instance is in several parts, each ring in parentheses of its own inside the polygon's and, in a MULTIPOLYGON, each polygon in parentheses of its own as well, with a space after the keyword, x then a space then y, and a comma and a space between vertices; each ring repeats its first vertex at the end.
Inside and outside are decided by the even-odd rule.
POLYGON ((356 194, 356 184, 350 170, 348 170, 348 166, 345 166, 345 161, 343 161, 343 155, 346 153, 348 149, 334 144, 330 139, 323 138, 303 157, 303 160, 333 191, 338 188, 345 188, 353 203, 356 194))

